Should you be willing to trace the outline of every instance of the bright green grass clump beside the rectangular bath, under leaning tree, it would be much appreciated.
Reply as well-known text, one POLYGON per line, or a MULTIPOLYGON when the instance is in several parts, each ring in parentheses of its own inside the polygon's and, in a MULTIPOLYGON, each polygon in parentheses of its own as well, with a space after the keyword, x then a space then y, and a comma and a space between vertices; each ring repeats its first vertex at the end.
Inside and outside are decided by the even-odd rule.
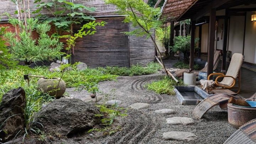
POLYGON ((180 83, 177 84, 175 80, 164 76, 162 80, 153 81, 150 84, 146 84, 145 87, 148 90, 155 91, 158 94, 168 94, 175 95, 174 87, 175 85, 183 85, 183 81, 179 80, 180 83))

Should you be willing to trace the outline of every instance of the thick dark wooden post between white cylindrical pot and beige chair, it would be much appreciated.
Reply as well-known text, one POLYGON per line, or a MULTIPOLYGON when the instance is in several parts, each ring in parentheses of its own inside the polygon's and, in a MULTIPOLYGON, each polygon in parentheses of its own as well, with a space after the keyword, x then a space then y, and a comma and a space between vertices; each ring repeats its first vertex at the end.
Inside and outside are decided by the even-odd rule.
MULTIPOLYGON (((213 73, 214 39, 215 39, 216 9, 210 10, 209 34, 208 34, 208 69, 207 76, 213 73)), ((210 78, 212 79, 212 77, 210 78)))

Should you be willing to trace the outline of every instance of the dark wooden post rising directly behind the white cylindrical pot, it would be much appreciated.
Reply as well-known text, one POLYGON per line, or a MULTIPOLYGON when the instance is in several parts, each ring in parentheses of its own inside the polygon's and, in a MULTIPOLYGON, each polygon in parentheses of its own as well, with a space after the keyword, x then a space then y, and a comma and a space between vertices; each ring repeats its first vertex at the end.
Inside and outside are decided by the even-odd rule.
POLYGON ((191 20, 191 47, 190 47, 190 68, 194 70, 194 39, 195 39, 195 28, 196 21, 191 20))

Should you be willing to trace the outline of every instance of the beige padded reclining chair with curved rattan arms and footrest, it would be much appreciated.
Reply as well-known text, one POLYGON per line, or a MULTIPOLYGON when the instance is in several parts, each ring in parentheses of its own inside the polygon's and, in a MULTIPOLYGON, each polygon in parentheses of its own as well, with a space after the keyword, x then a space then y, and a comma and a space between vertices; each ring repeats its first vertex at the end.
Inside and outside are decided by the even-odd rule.
POLYGON ((231 62, 229 64, 226 75, 222 73, 213 73, 208 76, 208 80, 200 80, 201 88, 210 92, 213 89, 238 89, 237 94, 240 92, 240 70, 243 62, 243 55, 240 53, 234 53, 231 62), (219 75, 215 81, 210 80, 210 76, 219 75), (223 78, 221 82, 218 82, 219 78, 223 78), (238 87, 235 87, 236 78, 238 78, 238 87))

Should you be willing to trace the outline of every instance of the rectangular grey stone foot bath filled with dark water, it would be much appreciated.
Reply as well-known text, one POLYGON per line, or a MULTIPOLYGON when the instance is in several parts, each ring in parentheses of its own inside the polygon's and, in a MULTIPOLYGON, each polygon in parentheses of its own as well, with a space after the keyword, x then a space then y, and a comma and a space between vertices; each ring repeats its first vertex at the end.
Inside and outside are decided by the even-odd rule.
POLYGON ((174 91, 182 105, 197 105, 209 96, 198 86, 174 86, 174 91))

